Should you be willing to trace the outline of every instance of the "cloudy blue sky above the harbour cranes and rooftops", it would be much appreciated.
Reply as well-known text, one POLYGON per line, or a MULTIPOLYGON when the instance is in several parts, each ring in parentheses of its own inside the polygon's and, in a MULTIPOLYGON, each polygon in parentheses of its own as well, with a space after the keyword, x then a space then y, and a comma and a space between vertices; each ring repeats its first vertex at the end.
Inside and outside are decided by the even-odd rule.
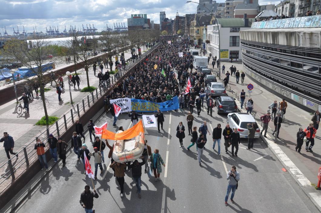
MULTIPOLYGON (((198 2, 198 0, 195 0, 198 2)), ((224 2, 224 0, 217 1, 224 2)), ((280 1, 275 1, 279 3, 280 1)), ((269 1, 259 1, 259 4, 268 4, 269 1)), ((17 26, 22 32, 24 26, 27 32, 35 30, 45 32, 46 27, 59 27, 62 32, 68 31, 70 25, 76 25, 76 29, 86 28, 86 24, 94 24, 98 31, 108 26, 114 26, 114 22, 125 22, 131 14, 147 13, 147 18, 160 23, 160 11, 165 11, 167 18, 175 18, 179 15, 195 13, 197 4, 186 3, 186 0, 0 0, 0 27, 7 29, 9 35, 13 35, 17 26)))

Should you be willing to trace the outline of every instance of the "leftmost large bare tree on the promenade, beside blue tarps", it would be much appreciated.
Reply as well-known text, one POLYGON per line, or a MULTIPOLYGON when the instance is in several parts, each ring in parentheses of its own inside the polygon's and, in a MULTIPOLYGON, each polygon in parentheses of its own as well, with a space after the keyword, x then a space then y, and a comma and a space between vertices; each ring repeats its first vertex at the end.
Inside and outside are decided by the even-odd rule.
MULTIPOLYGON (((53 52, 53 46, 44 37, 34 36, 31 40, 31 47, 23 40, 13 39, 6 42, 4 52, 13 60, 18 61, 29 68, 26 76, 22 76, 28 83, 37 83, 40 88, 40 95, 45 111, 46 125, 49 126, 48 112, 45 98, 45 85, 50 81, 50 76, 45 76, 45 70, 48 69, 48 58, 53 52), (30 76, 35 76, 30 78, 30 76)), ((58 57, 50 59, 54 63, 58 57)))

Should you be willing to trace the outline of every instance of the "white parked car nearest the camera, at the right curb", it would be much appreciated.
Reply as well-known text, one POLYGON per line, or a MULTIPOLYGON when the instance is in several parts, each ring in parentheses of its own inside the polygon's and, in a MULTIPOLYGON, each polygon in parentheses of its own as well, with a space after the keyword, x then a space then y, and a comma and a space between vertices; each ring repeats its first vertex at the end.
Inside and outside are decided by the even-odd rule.
POLYGON ((248 138, 247 124, 255 123, 256 129, 254 138, 260 137, 260 129, 252 115, 248 113, 229 113, 226 122, 232 129, 237 128, 241 138, 248 138))

